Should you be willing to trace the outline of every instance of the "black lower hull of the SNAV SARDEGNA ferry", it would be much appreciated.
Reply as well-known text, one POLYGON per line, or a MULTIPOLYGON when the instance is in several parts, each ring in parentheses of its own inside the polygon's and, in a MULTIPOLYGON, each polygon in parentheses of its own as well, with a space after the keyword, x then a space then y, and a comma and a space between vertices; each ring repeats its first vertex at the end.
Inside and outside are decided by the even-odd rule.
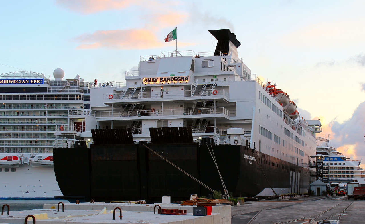
MULTIPOLYGON (((205 185, 223 192, 206 145, 147 146, 205 185)), ((274 194, 271 188, 281 194, 304 192, 309 187, 308 171, 301 166, 245 146, 212 147, 223 181, 233 196, 269 197, 274 194)), ((191 194, 212 193, 142 144, 54 149, 54 170, 66 199, 157 202, 166 195, 171 200, 187 200, 191 194)))

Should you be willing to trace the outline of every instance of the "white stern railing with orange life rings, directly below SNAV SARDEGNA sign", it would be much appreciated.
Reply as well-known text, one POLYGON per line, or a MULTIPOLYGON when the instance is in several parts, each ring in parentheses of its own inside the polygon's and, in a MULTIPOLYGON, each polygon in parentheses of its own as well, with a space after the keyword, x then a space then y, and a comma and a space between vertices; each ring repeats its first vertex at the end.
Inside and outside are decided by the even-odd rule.
MULTIPOLYGON (((123 99, 124 93, 112 93, 112 94, 103 94, 103 100, 111 101, 111 100, 129 100, 123 99), (112 95, 112 97, 110 96, 112 95), (112 99, 110 99, 112 98, 112 99)), ((216 96, 223 96, 229 99, 229 93, 224 89, 214 89, 214 90, 181 90, 181 91, 168 91, 168 92, 143 92, 142 94, 135 94, 130 99, 172 99, 182 97, 201 97, 201 96, 209 96, 214 99, 216 96)), ((182 99, 183 100, 183 99, 182 99)), ((203 100, 202 100, 203 101, 203 100)))

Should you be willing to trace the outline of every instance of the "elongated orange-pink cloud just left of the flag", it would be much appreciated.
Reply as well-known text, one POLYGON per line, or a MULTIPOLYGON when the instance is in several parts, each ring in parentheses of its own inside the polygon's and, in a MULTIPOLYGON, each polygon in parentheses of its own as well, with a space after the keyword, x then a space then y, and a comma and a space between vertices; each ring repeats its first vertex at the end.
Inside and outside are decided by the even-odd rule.
POLYGON ((149 49, 162 46, 149 30, 98 30, 93 34, 82 34, 74 38, 80 43, 77 49, 108 48, 115 50, 149 49))

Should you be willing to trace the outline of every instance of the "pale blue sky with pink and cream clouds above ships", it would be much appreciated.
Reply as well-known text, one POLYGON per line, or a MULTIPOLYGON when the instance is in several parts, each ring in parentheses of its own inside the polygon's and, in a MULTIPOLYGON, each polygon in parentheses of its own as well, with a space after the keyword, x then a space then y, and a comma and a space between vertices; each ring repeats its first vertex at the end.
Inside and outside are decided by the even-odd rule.
POLYGON ((331 146, 365 157, 364 1, 2 0, 0 73, 124 82, 139 56, 215 50, 208 30, 229 28, 238 54, 276 83, 304 119, 320 119, 331 146))

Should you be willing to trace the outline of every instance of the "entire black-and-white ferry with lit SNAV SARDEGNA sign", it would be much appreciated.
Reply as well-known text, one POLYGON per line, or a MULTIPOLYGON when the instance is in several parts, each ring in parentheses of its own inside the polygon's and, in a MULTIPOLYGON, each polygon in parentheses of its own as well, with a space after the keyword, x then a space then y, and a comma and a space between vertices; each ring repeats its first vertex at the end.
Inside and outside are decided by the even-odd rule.
MULTIPOLYGON (((230 30, 209 32, 218 40, 214 52, 174 51, 141 56, 139 69, 125 72, 126 82, 95 83, 96 88, 90 91, 91 111, 82 118, 93 124, 92 129, 100 130, 97 133, 104 133, 105 139, 107 133, 114 133, 113 129, 117 133, 119 128, 130 128, 128 133, 132 136, 127 137, 132 142, 147 141, 161 154, 167 153, 166 157, 182 169, 185 167, 203 183, 219 190, 221 183, 215 166, 208 169, 210 165, 203 165, 212 159, 204 151, 204 144, 189 145, 192 151, 181 153, 176 148, 167 149, 183 147, 170 144, 171 136, 166 136, 164 146, 155 145, 151 138, 152 134, 163 135, 164 130, 178 134, 183 127, 191 127, 191 134, 188 131, 187 135, 195 144, 206 142, 205 138, 214 139, 214 151, 220 155, 216 156, 220 160, 217 164, 234 196, 307 192, 310 174, 305 164, 308 156, 316 153, 315 133, 320 129, 300 117, 295 103, 284 89, 278 89, 279 85, 264 83, 251 74, 238 56, 241 43, 230 30), (218 177, 218 181, 213 177, 218 177)), ((75 118, 82 114, 82 109, 69 111, 69 116, 75 118)), ((90 152, 79 156, 75 151, 67 155, 62 149, 55 151, 55 157, 57 154, 60 158, 59 166, 55 165, 56 177, 65 196, 106 201, 153 200, 168 192, 172 198, 197 192, 207 195, 184 174, 168 174, 171 167, 156 162, 148 151, 146 155, 142 153, 145 149, 122 150, 138 148, 137 144, 106 146, 114 143, 104 142, 91 145, 90 152), (82 166, 77 163, 80 157, 85 158, 82 166), (115 169, 118 172, 112 171, 115 169), (74 174, 75 181, 80 176, 85 178, 80 182, 82 187, 70 188, 67 183, 72 177, 62 172, 74 174)))

